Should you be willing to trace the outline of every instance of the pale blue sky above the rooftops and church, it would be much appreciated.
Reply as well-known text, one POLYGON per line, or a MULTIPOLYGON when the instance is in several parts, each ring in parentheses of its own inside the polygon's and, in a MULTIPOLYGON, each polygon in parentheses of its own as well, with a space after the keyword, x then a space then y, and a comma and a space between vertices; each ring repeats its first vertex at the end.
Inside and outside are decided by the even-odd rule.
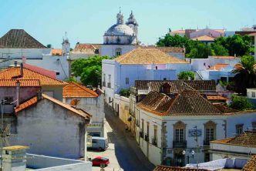
POLYGON ((227 28, 256 24, 255 0, 0 0, 0 36, 23 28, 42 44, 60 48, 67 32, 76 42, 102 43, 121 7, 139 23, 139 39, 154 44, 168 28, 227 28))

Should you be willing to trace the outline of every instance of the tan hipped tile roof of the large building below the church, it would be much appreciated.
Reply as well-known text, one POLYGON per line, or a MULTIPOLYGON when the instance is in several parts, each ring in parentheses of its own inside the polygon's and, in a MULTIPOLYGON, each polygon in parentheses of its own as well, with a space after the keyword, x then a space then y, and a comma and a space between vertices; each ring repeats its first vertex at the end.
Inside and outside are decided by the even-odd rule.
POLYGON ((158 49, 133 49, 113 59, 123 65, 152 65, 152 64, 188 64, 183 60, 167 55, 158 49))

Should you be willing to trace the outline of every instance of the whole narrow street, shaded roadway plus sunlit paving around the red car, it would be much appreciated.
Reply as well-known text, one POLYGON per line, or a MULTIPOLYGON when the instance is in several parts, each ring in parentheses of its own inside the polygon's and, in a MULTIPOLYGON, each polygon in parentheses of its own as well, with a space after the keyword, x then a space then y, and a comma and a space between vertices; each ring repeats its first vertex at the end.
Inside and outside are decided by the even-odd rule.
MULTIPOLYGON (((131 132, 125 130, 125 124, 108 107, 105 107, 105 115, 109 148, 104 152, 88 152, 88 156, 109 158, 110 163, 106 167, 106 171, 122 169, 125 171, 152 171, 153 164, 143 155, 131 132)), ((93 167, 93 170, 100 169, 93 167)))

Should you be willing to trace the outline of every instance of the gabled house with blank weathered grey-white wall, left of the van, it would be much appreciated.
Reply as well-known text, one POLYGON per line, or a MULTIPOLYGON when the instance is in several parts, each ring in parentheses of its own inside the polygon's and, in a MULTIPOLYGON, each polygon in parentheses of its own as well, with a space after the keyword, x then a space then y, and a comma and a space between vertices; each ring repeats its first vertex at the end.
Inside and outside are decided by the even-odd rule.
POLYGON ((29 153, 79 159, 86 157, 89 120, 82 109, 39 93, 16 106, 10 142, 29 146, 29 153))

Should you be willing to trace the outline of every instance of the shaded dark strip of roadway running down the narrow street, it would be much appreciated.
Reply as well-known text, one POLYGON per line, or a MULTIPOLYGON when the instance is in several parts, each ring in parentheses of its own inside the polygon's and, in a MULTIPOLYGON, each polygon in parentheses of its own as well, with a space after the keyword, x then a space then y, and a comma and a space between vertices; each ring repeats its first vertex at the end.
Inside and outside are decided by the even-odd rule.
POLYGON ((107 132, 109 142, 114 144, 116 159, 125 171, 151 171, 154 166, 143 155, 130 132, 126 132, 124 123, 105 107, 106 122, 113 132, 107 132))

